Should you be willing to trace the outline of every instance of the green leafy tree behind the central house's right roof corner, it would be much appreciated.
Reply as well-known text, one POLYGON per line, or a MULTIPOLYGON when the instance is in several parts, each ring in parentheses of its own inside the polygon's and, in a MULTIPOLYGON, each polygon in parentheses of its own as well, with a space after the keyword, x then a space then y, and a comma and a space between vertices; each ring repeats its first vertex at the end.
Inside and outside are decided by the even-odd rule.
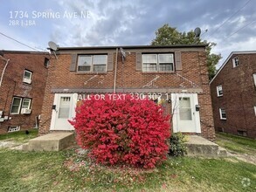
POLYGON ((175 27, 170 27, 169 24, 163 24, 156 31, 156 38, 151 42, 151 45, 207 45, 206 58, 209 72, 209 79, 212 79, 216 74, 216 65, 221 58, 220 54, 211 53, 211 48, 216 43, 207 42, 201 38, 195 38, 194 31, 179 32, 175 27))

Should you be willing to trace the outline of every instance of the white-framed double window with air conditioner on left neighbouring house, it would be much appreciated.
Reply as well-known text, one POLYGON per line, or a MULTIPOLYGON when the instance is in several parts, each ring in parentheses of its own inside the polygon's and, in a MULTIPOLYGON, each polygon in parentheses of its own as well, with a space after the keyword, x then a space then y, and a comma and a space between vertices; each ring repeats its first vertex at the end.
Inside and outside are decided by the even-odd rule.
MULTIPOLYGON (((31 99, 14 97, 10 108, 10 114, 24 113, 23 109, 31 108, 31 99)), ((26 112, 30 113, 30 112, 26 112)))

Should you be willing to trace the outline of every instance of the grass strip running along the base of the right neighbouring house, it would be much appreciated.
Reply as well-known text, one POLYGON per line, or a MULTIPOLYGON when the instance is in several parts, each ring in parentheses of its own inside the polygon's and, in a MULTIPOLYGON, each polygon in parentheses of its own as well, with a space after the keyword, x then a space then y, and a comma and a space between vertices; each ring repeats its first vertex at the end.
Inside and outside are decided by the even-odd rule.
POLYGON ((216 143, 228 150, 241 154, 256 154, 256 140, 233 135, 218 133, 216 143))

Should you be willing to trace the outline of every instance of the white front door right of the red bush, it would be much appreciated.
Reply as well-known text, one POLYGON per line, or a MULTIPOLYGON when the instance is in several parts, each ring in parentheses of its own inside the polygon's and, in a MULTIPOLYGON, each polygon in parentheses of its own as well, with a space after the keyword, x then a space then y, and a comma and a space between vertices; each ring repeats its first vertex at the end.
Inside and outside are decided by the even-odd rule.
POLYGON ((171 100, 173 132, 201 133, 197 94, 173 93, 171 100))

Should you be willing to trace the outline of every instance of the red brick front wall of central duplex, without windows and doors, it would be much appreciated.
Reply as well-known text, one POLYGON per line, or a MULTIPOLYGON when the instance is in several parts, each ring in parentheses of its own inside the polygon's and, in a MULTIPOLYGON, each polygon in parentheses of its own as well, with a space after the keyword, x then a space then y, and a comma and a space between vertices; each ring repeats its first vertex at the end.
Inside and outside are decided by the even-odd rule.
MULTIPOLYGON (((215 138, 204 45, 124 46, 126 58, 123 62, 118 48, 59 48, 58 58, 52 55, 40 134, 50 131, 54 93, 113 93, 115 90, 117 93, 163 93, 163 97, 166 97, 165 93, 197 93, 202 135, 208 139, 215 138), (173 53, 174 72, 142 72, 143 53, 173 53), (107 72, 76 72, 77 64, 73 63, 80 54, 107 54, 107 72)), ((170 102, 166 101, 164 105, 170 113, 170 102)))

